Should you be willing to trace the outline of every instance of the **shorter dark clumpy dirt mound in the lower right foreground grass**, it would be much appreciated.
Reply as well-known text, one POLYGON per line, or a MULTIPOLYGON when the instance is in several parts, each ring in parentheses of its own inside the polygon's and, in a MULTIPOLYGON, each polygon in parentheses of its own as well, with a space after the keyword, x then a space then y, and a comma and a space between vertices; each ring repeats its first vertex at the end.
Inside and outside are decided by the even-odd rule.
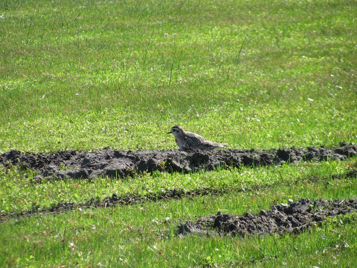
POLYGON ((315 222, 326 217, 357 211, 357 199, 315 200, 301 199, 291 204, 273 205, 270 210, 261 210, 260 214, 231 216, 218 212, 196 222, 187 221, 177 226, 178 235, 197 233, 200 235, 232 235, 301 233, 308 230, 315 222))

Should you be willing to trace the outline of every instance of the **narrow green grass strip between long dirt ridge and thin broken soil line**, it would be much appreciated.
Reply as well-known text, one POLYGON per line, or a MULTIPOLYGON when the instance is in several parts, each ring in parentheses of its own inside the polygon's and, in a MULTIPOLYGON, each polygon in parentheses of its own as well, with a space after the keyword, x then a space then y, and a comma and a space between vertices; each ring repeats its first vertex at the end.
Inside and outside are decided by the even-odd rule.
MULTIPOLYGON (((183 196, 226 194, 230 192, 255 191, 256 189, 289 187, 298 182, 314 181, 315 177, 325 180, 326 184, 337 185, 334 178, 353 183, 348 178, 356 159, 337 162, 311 162, 278 167, 242 167, 240 169, 218 169, 214 172, 198 172, 191 174, 169 174, 154 172, 152 175, 140 175, 135 178, 109 179, 98 177, 93 180, 51 180, 43 183, 32 182, 32 172, 19 171, 17 168, 0 168, 0 211, 2 213, 19 213, 28 210, 41 211, 57 207, 57 204, 74 202, 74 207, 91 204, 93 200, 102 202, 106 197, 117 195, 118 199, 157 200, 166 198, 166 194, 177 190, 183 196), (26 178, 29 177, 29 178, 26 178)), ((336 186, 333 191, 348 194, 346 187, 336 186)), ((325 185, 326 186, 326 185, 325 185)), ((328 197, 328 189, 316 188, 317 197, 328 197)), ((351 186, 352 187, 352 186, 351 186)), ((350 193, 350 197, 353 197, 350 193)), ((280 194, 276 195, 276 199, 280 194)), ((308 197, 308 195, 306 196, 308 197)), ((170 198, 168 195, 167 198, 170 198)), ((296 197, 297 198, 297 197, 296 197)), ((235 202, 233 202, 235 205, 235 202)))

